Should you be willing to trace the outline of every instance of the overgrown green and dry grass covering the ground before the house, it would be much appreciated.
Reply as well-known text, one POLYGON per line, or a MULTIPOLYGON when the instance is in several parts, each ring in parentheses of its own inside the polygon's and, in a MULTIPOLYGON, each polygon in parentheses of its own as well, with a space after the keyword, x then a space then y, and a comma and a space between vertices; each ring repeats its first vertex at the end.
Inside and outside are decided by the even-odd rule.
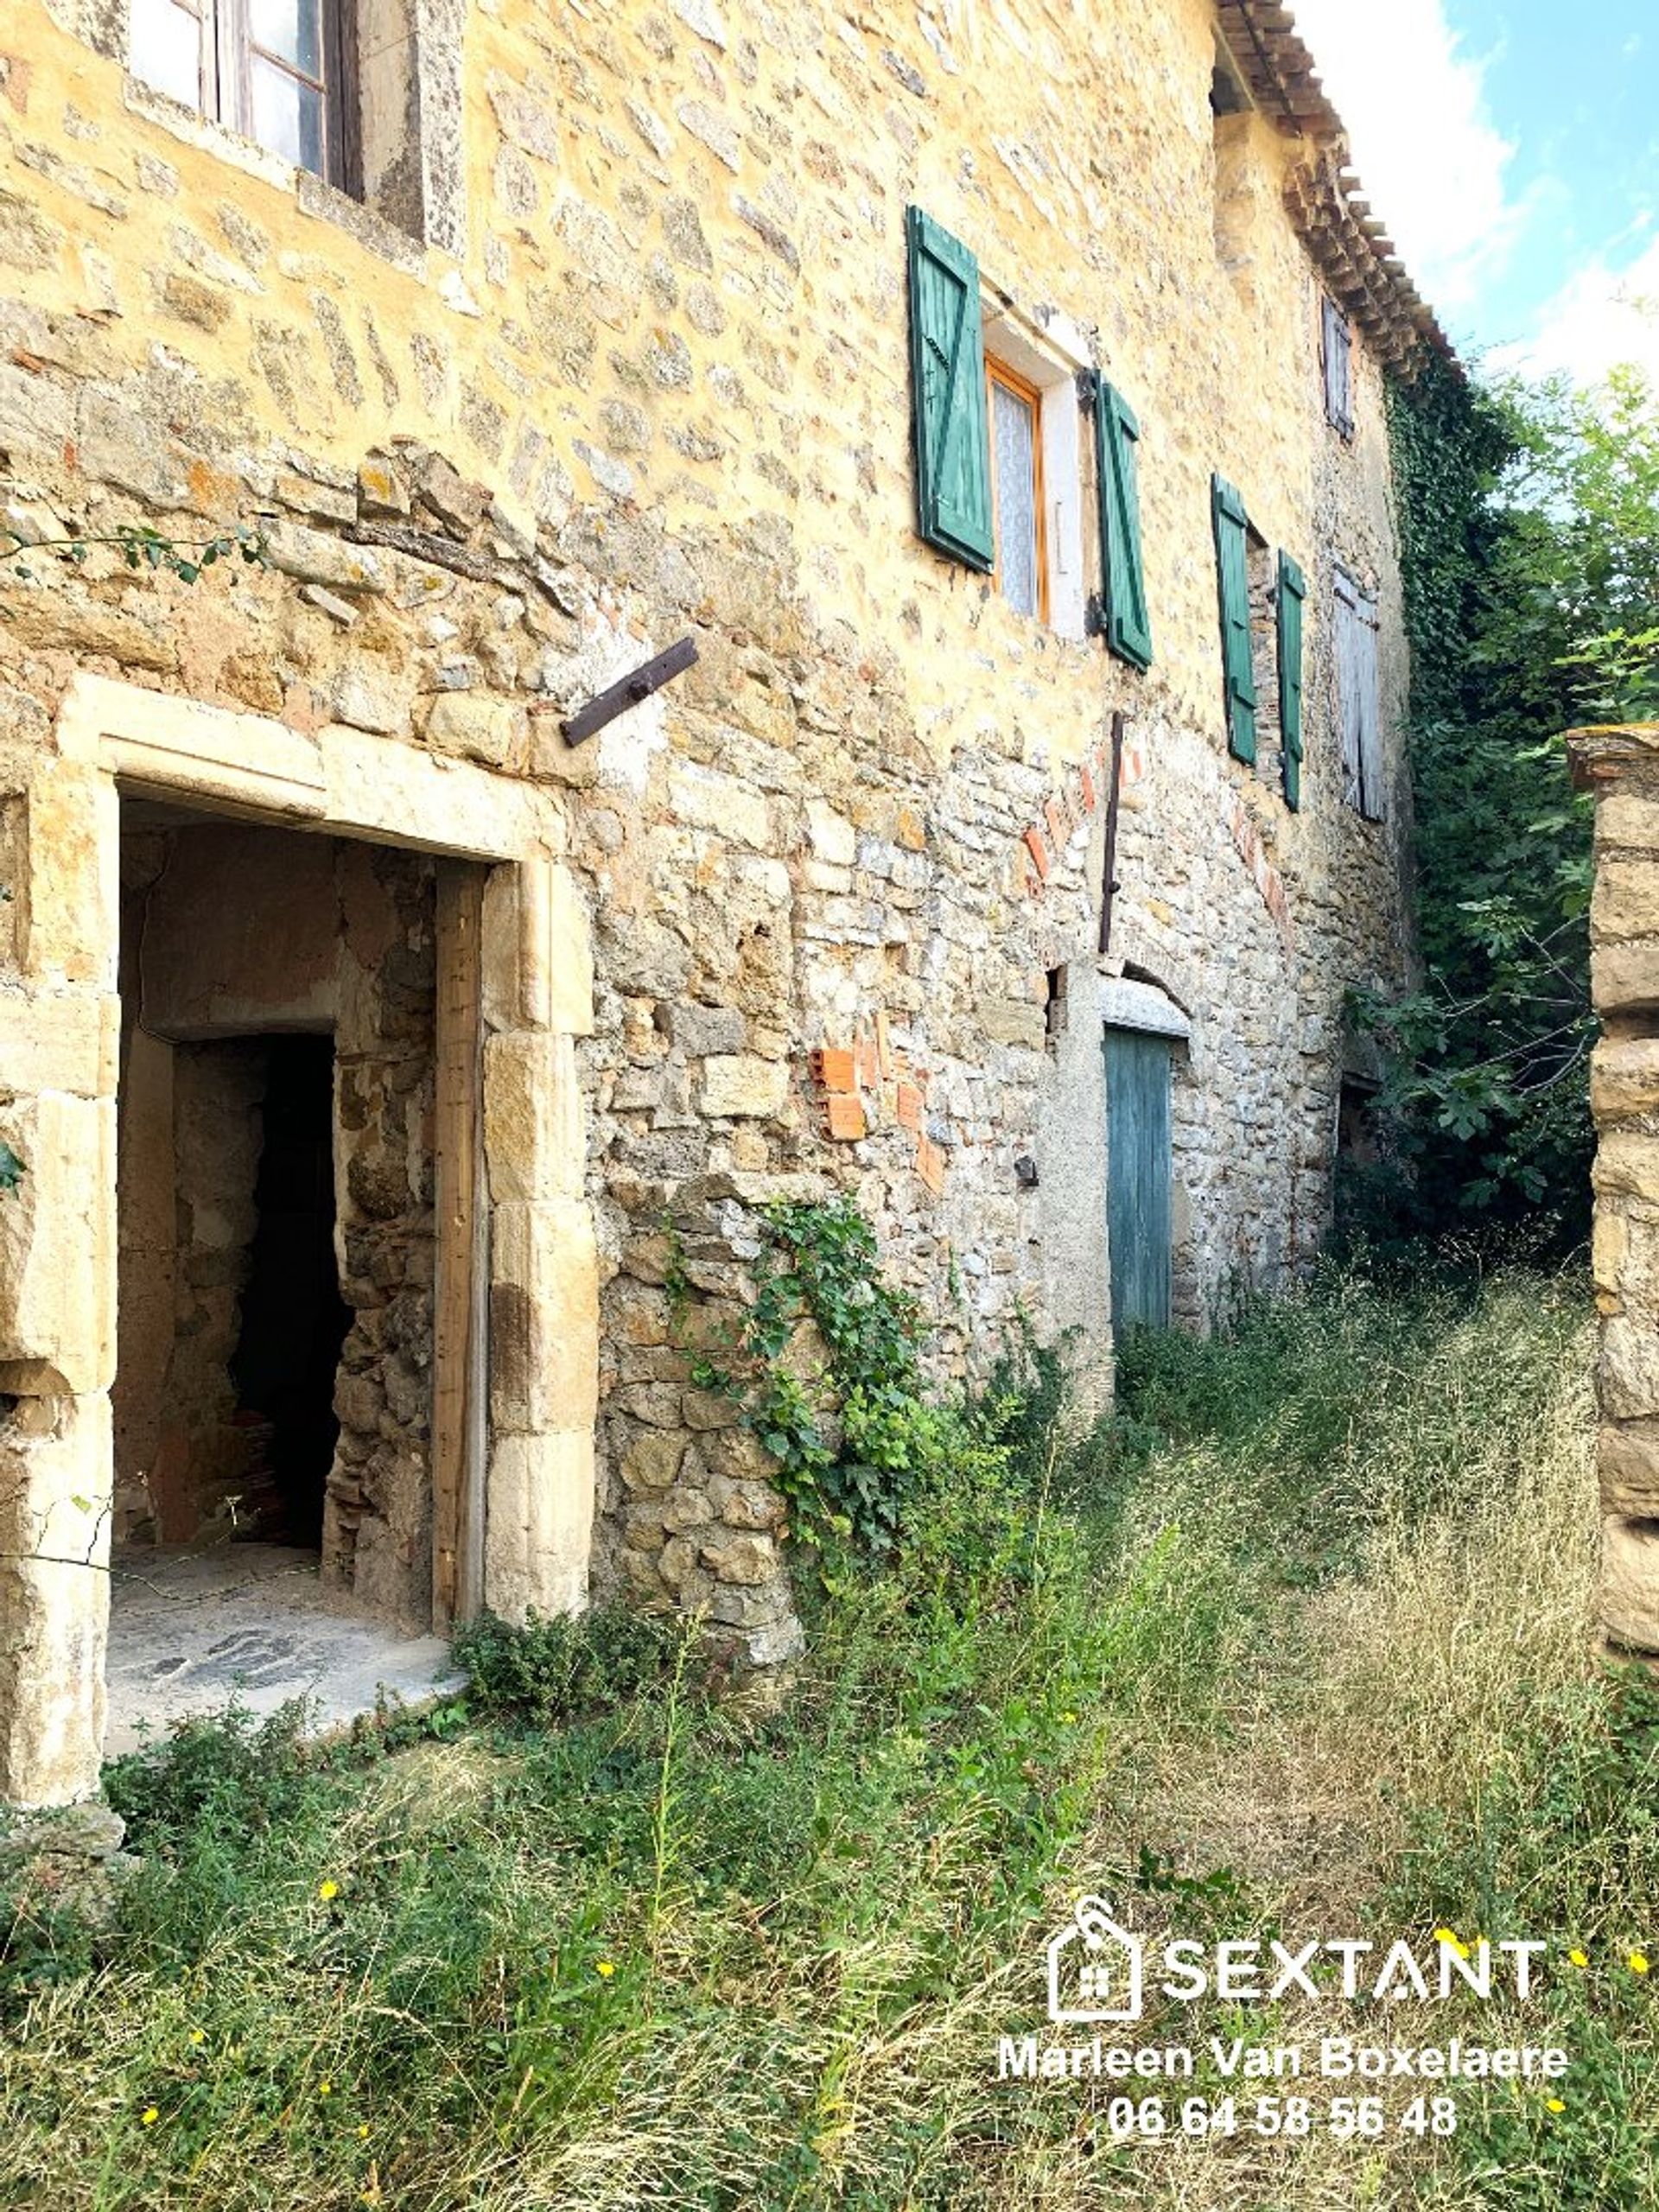
MULTIPOLYGON (((832 1573, 779 1714, 710 1703, 695 1632, 599 1619, 487 1630, 458 1741, 243 1721, 117 1772, 115 1938, 13 1929, 0 2201, 1659 2205, 1657 1730, 1590 1650, 1586 1307, 1349 1279, 1133 1347, 1108 1431, 975 1453, 889 1571, 832 1573), (1113 2084, 995 2079, 1079 1889, 1579 1947, 1564 2110, 1115 2148, 1113 2084)), ((1188 2011, 1146 2033, 1228 2026, 1188 2011)))

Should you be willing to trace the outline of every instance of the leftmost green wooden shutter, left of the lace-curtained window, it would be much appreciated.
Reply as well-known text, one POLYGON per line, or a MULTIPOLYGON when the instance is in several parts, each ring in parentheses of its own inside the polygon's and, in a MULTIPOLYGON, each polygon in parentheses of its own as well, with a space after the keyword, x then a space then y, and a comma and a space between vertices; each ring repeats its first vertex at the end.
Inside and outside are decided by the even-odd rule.
POLYGON ((909 365, 916 409, 916 526, 922 538, 991 568, 991 447, 984 429, 980 263, 949 230, 909 208, 909 365))

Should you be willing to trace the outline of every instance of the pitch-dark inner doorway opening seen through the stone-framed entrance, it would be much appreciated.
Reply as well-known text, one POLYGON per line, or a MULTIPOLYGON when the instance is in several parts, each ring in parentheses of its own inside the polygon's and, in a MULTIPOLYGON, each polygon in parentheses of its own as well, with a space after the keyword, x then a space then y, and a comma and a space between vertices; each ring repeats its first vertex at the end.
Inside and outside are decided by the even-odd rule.
POLYGON ((243 1526, 319 1546, 341 1433, 334 1374, 352 1325, 334 1261, 334 1040, 270 1037, 257 1228, 230 1358, 250 1436, 243 1526))

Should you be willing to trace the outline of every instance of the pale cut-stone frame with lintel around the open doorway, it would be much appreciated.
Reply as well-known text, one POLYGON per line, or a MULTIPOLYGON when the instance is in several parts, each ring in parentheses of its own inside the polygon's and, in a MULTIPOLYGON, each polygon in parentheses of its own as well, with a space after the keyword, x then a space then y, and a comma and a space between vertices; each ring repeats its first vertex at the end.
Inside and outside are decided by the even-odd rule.
POLYGON ((436 925, 434 1619, 588 1586, 593 960, 557 801, 80 672, 4 838, 24 980, 0 989, 0 1135, 27 1172, 0 1199, 0 1796, 35 1805, 97 1787, 104 1734, 124 794, 469 863, 440 869, 436 925))

